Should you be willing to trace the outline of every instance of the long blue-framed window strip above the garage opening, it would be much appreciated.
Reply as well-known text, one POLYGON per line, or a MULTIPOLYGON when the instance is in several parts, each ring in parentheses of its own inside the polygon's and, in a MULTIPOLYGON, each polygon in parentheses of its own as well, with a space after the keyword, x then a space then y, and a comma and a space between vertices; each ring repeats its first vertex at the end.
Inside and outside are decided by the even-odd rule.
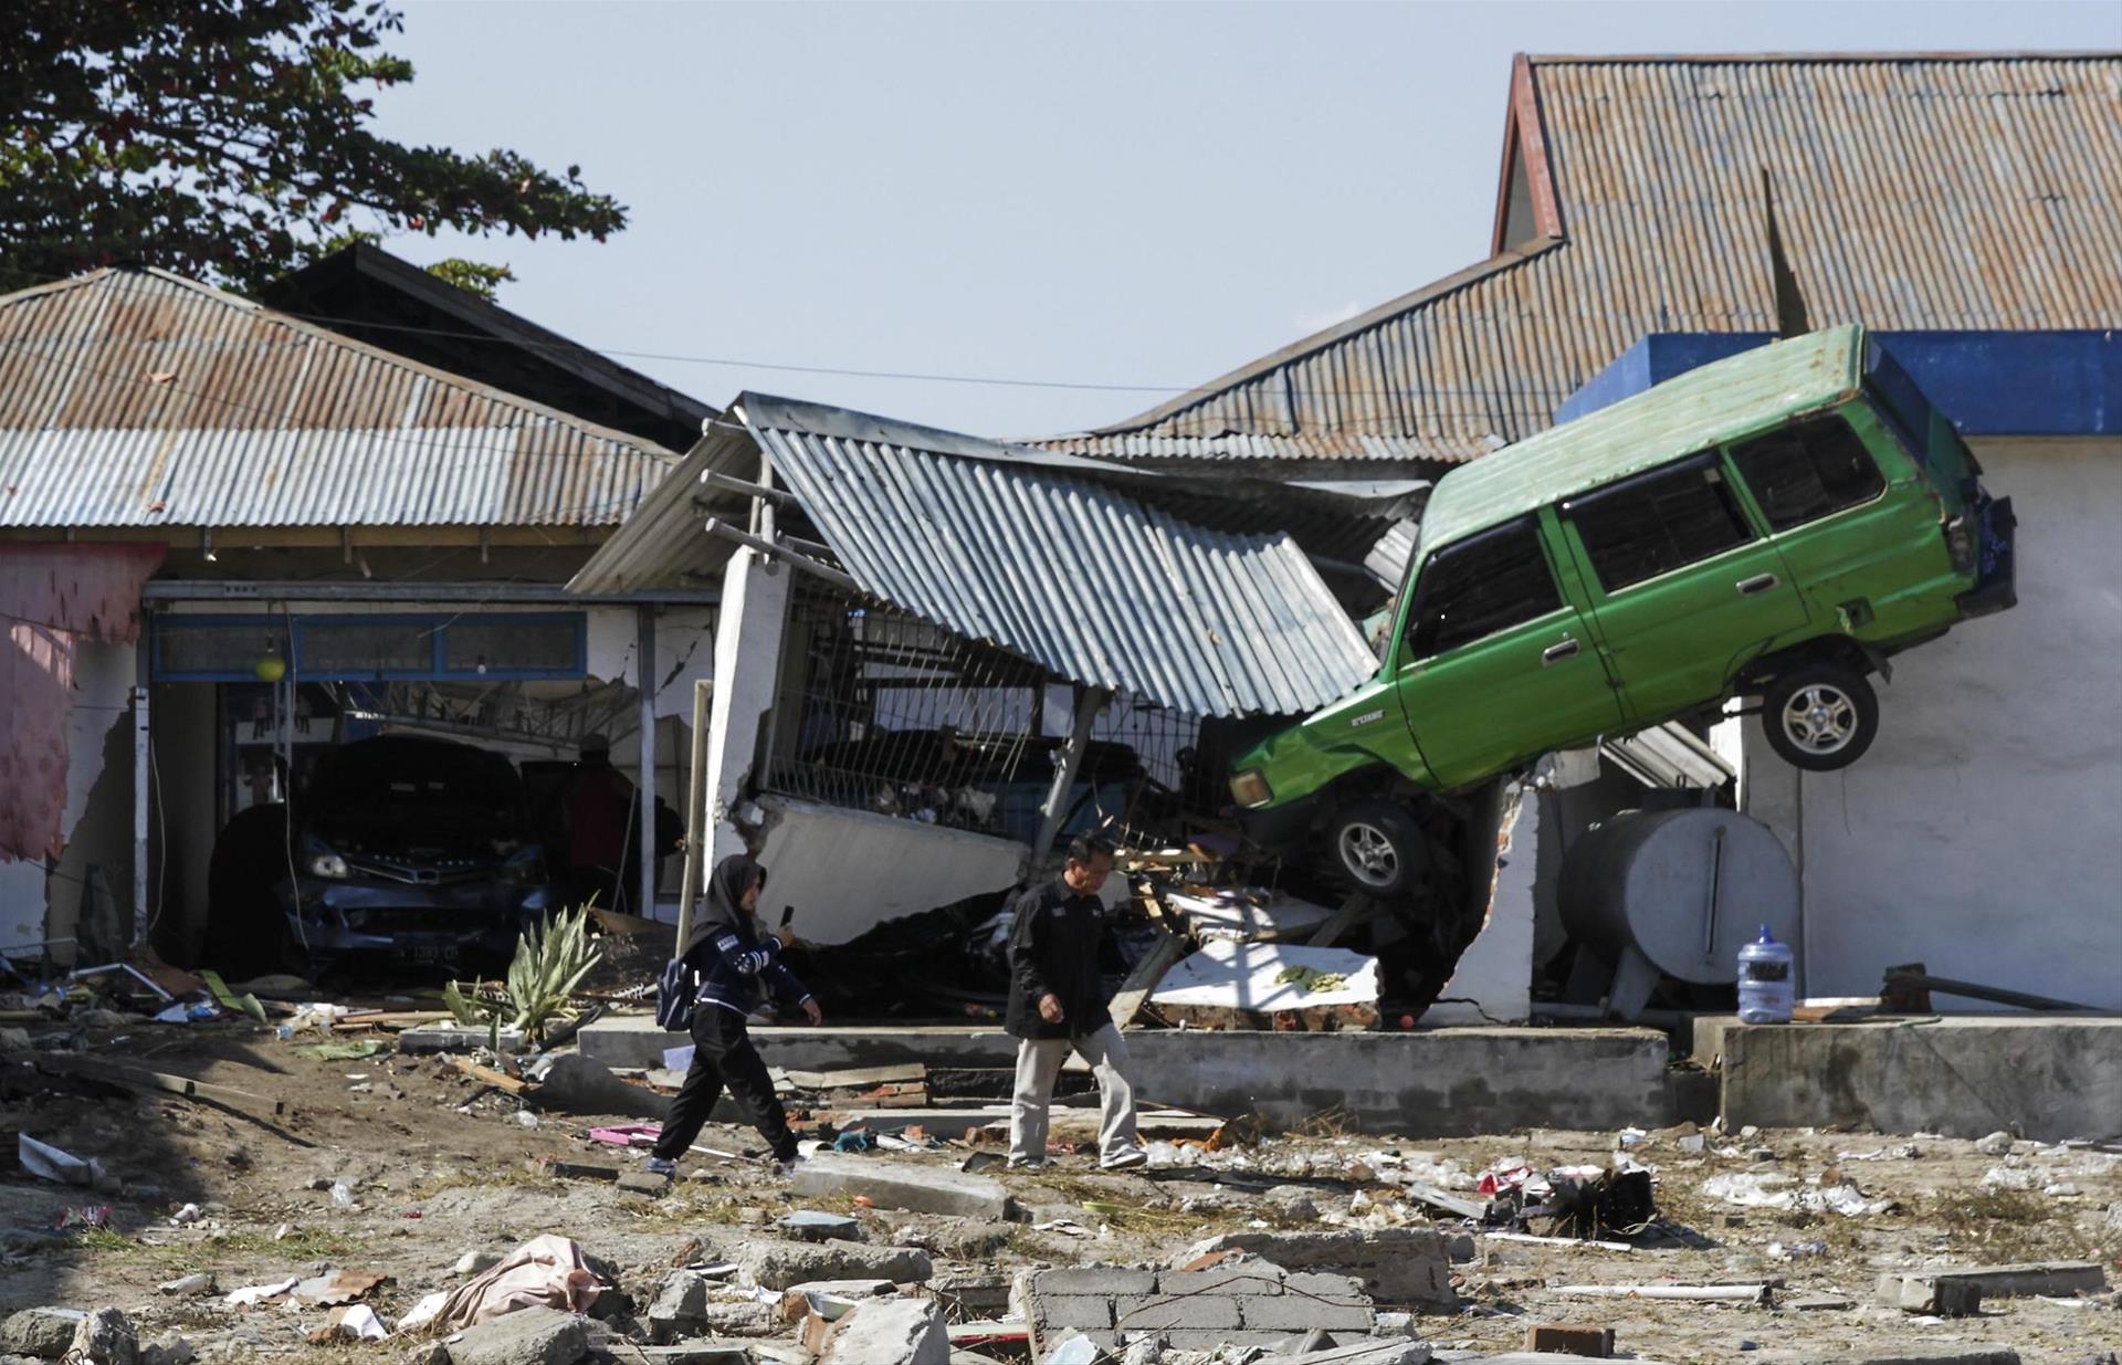
POLYGON ((153 624, 157 681, 257 681, 278 656, 303 681, 535 681, 588 673, 581 611, 182 616, 153 624))

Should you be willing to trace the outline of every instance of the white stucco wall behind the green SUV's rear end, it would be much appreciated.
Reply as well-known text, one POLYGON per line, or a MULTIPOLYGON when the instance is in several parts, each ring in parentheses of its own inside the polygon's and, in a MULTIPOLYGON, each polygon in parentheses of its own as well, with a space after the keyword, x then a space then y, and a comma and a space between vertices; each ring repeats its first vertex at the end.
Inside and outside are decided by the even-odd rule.
POLYGON ((1797 779, 1751 728, 1749 809, 1799 858, 1806 993, 1923 962, 2122 1008, 2122 439, 1976 452, 2018 514, 2018 607, 1895 658, 1850 768, 1797 779))

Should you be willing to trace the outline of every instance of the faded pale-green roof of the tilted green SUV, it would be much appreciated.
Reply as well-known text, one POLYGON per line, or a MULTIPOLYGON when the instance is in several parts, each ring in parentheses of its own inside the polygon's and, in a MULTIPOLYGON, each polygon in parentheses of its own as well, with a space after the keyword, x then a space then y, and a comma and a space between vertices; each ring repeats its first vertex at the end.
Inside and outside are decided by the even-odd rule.
POLYGON ((1437 480, 1422 554, 1462 535, 1751 435, 1857 391, 1863 329, 1836 327, 1689 369, 1437 480))

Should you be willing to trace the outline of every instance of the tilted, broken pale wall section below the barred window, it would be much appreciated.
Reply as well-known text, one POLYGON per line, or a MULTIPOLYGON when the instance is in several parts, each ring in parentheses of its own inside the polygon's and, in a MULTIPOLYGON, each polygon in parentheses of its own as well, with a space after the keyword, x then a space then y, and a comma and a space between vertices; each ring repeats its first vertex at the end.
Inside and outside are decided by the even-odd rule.
POLYGON ((768 870, 760 915, 811 943, 847 943, 900 915, 1016 885, 1031 849, 1010 839, 944 830, 917 819, 762 796, 768 870))

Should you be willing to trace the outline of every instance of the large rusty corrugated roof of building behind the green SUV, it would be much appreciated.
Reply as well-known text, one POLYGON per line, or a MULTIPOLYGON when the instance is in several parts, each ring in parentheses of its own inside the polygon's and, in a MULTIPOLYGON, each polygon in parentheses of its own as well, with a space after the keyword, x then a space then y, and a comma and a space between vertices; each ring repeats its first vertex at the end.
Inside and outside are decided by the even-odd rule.
POLYGON ((1532 57, 1519 81, 1560 238, 1040 444, 1488 454, 1549 427, 1645 333, 1776 331, 1763 168, 1814 327, 2122 325, 2118 53, 1532 57))

